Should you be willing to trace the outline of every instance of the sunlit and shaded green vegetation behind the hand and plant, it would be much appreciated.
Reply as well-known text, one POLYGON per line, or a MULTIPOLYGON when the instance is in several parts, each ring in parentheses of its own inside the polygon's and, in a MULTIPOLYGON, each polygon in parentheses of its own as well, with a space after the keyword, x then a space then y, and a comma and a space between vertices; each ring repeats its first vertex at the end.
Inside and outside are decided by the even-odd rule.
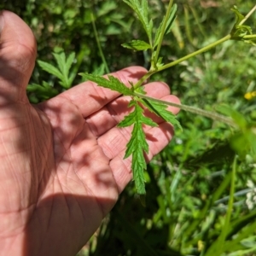
MULTIPOLYGON (((148 3, 158 20, 168 1, 148 3)), ((164 60, 187 55, 230 32, 234 4, 247 14, 255 3, 177 1, 177 26, 165 38, 160 53, 164 60)), ((147 53, 132 53, 120 46, 144 36, 121 0, 8 0, 0 3, 3 8, 31 26, 39 60, 55 65, 52 52, 75 53, 73 85, 81 81, 75 76, 79 72, 105 73, 92 20, 110 71, 131 65, 148 67, 147 53)), ((247 23, 255 28, 256 15, 247 23)), ((256 98, 244 97, 256 90, 255 56, 255 46, 230 41, 153 77, 170 84, 184 104, 214 110, 226 103, 251 125, 234 133, 211 119, 179 113, 183 131, 177 131, 172 143, 148 165, 146 207, 131 183, 79 255, 256 255, 256 157, 247 147, 256 144, 256 98), (235 191, 230 193, 230 188, 235 191)), ((66 89, 58 79, 35 67, 27 90, 31 102, 44 101, 62 90, 66 89)))

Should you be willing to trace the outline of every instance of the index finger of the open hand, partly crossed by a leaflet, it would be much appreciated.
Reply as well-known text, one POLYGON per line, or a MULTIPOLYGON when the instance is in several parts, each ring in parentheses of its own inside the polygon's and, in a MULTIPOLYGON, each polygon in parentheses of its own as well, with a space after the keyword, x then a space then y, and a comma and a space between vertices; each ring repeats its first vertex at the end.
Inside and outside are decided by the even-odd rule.
MULTIPOLYGON (((129 82, 137 83, 145 73, 147 73, 147 70, 143 67, 126 67, 116 73, 111 73, 111 75, 128 86, 129 82)), ((87 81, 74 86, 59 96, 73 102, 85 118, 104 107, 108 102, 113 101, 120 94, 117 91, 102 88, 97 86, 96 83, 87 81)))

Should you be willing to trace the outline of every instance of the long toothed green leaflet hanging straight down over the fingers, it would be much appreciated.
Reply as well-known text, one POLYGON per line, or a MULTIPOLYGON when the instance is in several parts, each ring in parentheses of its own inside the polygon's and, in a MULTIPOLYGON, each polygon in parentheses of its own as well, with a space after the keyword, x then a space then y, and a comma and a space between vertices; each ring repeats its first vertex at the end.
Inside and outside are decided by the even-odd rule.
POLYGON ((143 115, 143 108, 136 101, 131 101, 134 106, 133 112, 125 116, 125 119, 119 123, 119 127, 127 127, 133 125, 131 131, 131 139, 126 145, 125 158, 132 155, 131 170, 133 179, 135 180, 137 193, 145 195, 144 171, 147 168, 144 152, 148 153, 148 143, 143 131, 143 125, 157 126, 152 119, 143 115))

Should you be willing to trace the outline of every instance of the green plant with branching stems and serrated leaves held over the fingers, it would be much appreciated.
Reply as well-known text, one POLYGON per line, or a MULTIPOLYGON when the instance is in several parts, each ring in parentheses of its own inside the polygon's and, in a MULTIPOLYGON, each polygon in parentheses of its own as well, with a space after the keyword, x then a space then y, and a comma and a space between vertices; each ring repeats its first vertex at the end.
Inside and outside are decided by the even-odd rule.
MULTIPOLYGON (((207 46, 196 50, 194 53, 186 55, 176 61, 172 61, 170 63, 164 64, 163 57, 160 57, 160 48, 163 41, 163 38, 166 34, 171 32, 172 26, 174 24, 174 20, 176 17, 177 5, 173 4, 171 0, 169 2, 166 15, 163 20, 160 22, 160 25, 156 29, 156 32, 153 36, 153 26, 154 21, 148 18, 148 1, 146 0, 124 0, 131 9, 135 11, 138 19, 141 21, 143 25, 143 29, 147 34, 148 42, 143 40, 132 40, 130 43, 122 44, 123 47, 133 50, 150 50, 151 58, 150 58, 150 68, 148 73, 146 73, 142 79, 140 79, 137 84, 131 84, 131 88, 127 88, 125 84, 122 84, 118 79, 113 78, 113 76, 108 76, 108 78, 103 78, 94 74, 89 73, 81 73, 84 79, 89 79, 99 86, 108 88, 110 90, 116 90, 120 94, 125 96, 131 96, 131 102, 129 107, 134 107, 133 112, 131 112, 128 116, 125 117, 123 121, 119 123, 119 127, 126 127, 133 125, 133 130, 131 132, 131 140, 127 143, 127 149, 125 153, 125 158, 132 156, 132 172, 133 177, 137 187, 137 193, 140 195, 144 195, 145 185, 144 185, 144 171, 146 169, 146 162, 144 160, 143 154, 148 153, 148 143, 146 142, 145 134, 143 132, 143 125, 151 125, 155 126, 156 124, 143 115, 144 110, 142 105, 148 108, 149 111, 155 113, 160 116, 162 119, 165 119, 167 122, 170 122, 172 125, 179 125, 175 117, 172 113, 166 110, 167 106, 174 106, 181 108, 183 110, 201 114, 207 116, 212 119, 223 121, 227 125, 232 125, 237 127, 240 123, 237 124, 237 119, 230 119, 226 116, 220 115, 218 113, 211 113, 209 111, 201 110, 198 108, 193 108, 190 106, 174 104, 172 102, 164 102, 149 96, 146 96, 145 91, 143 90, 142 84, 149 79, 154 73, 159 73, 160 71, 165 70, 166 68, 173 67, 182 61, 186 61, 195 55, 199 55, 212 47, 216 47, 218 44, 222 44, 227 40, 239 40, 244 41, 249 44, 255 44, 256 35, 253 34, 252 28, 250 26, 243 25, 244 22, 248 19, 250 15, 256 9, 256 6, 246 15, 241 15, 236 6, 232 9, 236 14, 236 23, 233 26, 231 32, 225 36, 224 38, 219 39, 218 41, 208 44, 207 46), (235 121, 234 121, 235 120, 235 121)), ((226 111, 227 112, 227 111, 226 111)), ((233 116, 237 115, 233 112, 233 116)), ((245 124, 244 126, 248 126, 245 124)), ((240 125, 241 127, 241 125, 240 125)), ((254 134, 251 132, 253 137, 253 142, 255 141, 254 134)), ((243 137, 245 136, 245 132, 243 133, 243 137)), ((251 142, 248 147, 251 147, 251 142)), ((253 147, 254 148, 254 147, 253 147)), ((254 149, 253 149, 254 151, 254 149)))

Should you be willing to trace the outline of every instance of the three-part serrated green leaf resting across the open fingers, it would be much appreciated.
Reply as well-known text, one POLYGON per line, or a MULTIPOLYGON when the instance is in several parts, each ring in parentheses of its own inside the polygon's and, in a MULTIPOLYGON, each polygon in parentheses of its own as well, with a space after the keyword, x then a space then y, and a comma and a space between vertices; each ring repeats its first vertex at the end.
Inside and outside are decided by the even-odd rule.
MULTIPOLYGON (((108 75, 108 79, 100 77, 98 75, 82 73, 84 79, 89 79, 90 81, 99 84, 104 88, 110 90, 118 91, 120 94, 125 96, 131 96, 132 100, 127 107, 134 107, 134 110, 127 116, 125 119, 119 123, 119 127, 127 127, 133 125, 133 130, 131 132, 131 139, 126 146, 125 158, 132 156, 131 160, 131 170, 133 172, 133 177, 137 187, 137 193, 140 195, 145 195, 145 185, 144 185, 144 171, 147 169, 146 160, 144 158, 144 153, 148 154, 148 143, 146 141, 146 135, 143 131, 143 125, 157 126, 152 119, 144 116, 144 110, 140 106, 140 103, 144 107, 148 108, 152 113, 160 116, 162 119, 170 122, 172 125, 178 125, 180 128, 177 119, 172 112, 166 110, 167 105, 164 102, 154 102, 154 99, 143 99, 139 98, 139 94, 136 94, 136 89, 133 84, 131 84, 131 89, 121 83, 119 79, 114 78, 111 75, 108 75)), ((142 87, 137 88, 137 91, 143 91, 142 87)))

